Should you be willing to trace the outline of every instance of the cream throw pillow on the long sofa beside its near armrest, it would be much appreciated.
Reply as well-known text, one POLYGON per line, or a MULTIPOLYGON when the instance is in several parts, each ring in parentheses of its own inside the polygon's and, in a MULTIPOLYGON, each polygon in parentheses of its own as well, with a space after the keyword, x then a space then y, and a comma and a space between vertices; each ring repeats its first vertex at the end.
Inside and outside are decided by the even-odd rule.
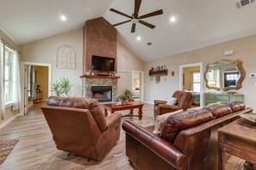
POLYGON ((162 115, 159 115, 155 118, 155 122, 154 122, 154 131, 153 131, 153 134, 155 135, 161 135, 161 131, 162 131, 162 128, 163 128, 163 125, 165 124, 165 121, 166 119, 169 117, 169 116, 172 116, 173 114, 177 114, 179 112, 183 112, 183 109, 180 109, 178 111, 175 111, 175 112, 168 112, 168 113, 165 113, 165 114, 162 114, 162 115))

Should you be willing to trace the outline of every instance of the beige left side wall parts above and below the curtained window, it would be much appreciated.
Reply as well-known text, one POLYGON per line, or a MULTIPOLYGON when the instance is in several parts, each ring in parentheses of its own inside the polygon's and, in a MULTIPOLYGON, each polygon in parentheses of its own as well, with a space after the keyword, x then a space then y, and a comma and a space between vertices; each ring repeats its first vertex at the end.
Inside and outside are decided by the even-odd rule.
MULTIPOLYGON (((0 39, 5 40, 10 46, 13 46, 14 48, 16 48, 16 50, 19 51, 19 46, 16 45, 16 43, 14 41, 12 41, 11 39, 9 39, 9 37, 3 33, 3 31, 0 29, 0 39)), ((3 120, 1 120, 0 118, 0 124, 3 124, 3 122, 5 122, 6 120, 8 120, 9 118, 13 117, 14 115, 16 115, 17 112, 13 112, 11 111, 11 106, 9 106, 8 108, 5 109, 5 117, 3 120)))

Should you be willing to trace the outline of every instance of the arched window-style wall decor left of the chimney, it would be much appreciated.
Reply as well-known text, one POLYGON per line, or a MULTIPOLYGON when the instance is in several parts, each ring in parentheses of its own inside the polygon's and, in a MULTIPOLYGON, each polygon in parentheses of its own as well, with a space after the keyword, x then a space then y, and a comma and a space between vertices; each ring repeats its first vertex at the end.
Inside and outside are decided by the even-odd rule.
POLYGON ((57 63, 59 69, 76 69, 76 51, 72 46, 59 46, 56 51, 57 63))

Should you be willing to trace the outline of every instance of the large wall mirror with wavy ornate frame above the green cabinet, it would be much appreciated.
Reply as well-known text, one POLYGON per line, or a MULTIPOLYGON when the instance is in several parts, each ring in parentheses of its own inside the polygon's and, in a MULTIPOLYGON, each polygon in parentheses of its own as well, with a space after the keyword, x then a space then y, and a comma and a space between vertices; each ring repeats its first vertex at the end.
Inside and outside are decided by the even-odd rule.
POLYGON ((246 71, 242 61, 223 59, 206 65, 204 79, 209 89, 228 91, 242 88, 246 71))

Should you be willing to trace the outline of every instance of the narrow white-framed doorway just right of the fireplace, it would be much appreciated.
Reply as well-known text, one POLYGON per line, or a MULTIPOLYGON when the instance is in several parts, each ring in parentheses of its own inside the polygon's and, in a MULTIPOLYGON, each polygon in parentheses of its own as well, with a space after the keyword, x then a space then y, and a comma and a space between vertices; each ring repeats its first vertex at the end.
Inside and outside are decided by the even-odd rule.
POLYGON ((132 70, 132 92, 134 100, 144 101, 144 72, 132 70))

